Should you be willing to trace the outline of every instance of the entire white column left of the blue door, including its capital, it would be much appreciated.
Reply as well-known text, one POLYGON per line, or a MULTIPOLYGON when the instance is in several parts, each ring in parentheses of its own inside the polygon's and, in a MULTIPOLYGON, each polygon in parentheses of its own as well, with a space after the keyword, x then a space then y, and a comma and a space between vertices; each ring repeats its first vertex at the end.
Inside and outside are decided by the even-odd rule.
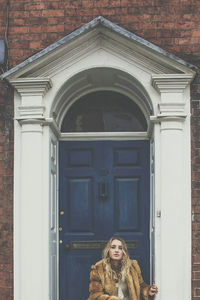
POLYGON ((14 299, 49 299, 49 160, 44 95, 48 79, 16 79, 14 169, 14 299), (45 145, 45 140, 47 140, 45 145), (47 156, 47 158, 46 158, 47 156), (48 170, 47 170, 48 173, 48 170))

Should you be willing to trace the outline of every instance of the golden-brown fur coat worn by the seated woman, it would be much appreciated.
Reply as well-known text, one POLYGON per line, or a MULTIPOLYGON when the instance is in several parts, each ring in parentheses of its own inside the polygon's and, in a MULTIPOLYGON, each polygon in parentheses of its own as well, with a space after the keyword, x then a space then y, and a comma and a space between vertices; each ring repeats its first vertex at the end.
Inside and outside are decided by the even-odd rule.
MULTIPOLYGON (((106 277, 103 260, 92 265, 90 272, 90 297, 88 300, 120 300, 116 296, 115 281, 106 277)), ((148 296, 150 286, 142 278, 140 267, 136 260, 132 260, 130 272, 126 277, 129 290, 129 300, 140 300, 140 295, 145 300, 152 299, 148 296)))

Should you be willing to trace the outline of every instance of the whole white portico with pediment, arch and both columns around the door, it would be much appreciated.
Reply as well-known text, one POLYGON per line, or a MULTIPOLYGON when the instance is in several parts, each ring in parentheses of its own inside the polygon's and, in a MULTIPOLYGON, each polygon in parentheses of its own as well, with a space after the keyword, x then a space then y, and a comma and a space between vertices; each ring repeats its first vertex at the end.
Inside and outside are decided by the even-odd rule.
MULTIPOLYGON (((113 90, 141 107, 152 142, 152 221, 159 300, 191 298, 190 83, 195 69, 102 17, 11 69, 15 88, 14 299, 58 300, 58 141, 82 95, 113 90), (106 76, 107 75, 107 76, 106 76), (109 76, 108 76, 109 75, 109 76)), ((70 299, 71 300, 71 299, 70 299)))

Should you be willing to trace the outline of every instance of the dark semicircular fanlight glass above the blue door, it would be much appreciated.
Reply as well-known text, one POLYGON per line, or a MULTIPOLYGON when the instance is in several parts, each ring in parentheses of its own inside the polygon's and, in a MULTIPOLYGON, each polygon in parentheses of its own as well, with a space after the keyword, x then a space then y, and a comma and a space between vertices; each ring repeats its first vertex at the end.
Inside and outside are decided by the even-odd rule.
POLYGON ((144 132, 147 122, 141 109, 128 97, 110 91, 87 94, 65 115, 62 132, 144 132))

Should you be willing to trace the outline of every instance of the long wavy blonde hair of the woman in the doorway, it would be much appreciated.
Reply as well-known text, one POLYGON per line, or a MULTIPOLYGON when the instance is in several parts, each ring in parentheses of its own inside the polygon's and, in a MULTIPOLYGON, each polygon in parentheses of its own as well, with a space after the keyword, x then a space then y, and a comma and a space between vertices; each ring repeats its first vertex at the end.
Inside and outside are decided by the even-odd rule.
POLYGON ((108 243, 106 244, 106 246, 103 250, 103 261, 104 261, 104 265, 105 265, 106 275, 110 279, 122 280, 122 281, 125 280, 128 272, 129 272, 129 269, 130 269, 131 261, 130 261, 129 255, 128 255, 127 245, 122 238, 111 237, 111 239, 108 241, 108 243), (118 240, 122 243, 123 256, 122 256, 122 259, 120 261, 118 268, 115 268, 112 265, 112 260, 109 255, 111 244, 114 240, 118 240))

